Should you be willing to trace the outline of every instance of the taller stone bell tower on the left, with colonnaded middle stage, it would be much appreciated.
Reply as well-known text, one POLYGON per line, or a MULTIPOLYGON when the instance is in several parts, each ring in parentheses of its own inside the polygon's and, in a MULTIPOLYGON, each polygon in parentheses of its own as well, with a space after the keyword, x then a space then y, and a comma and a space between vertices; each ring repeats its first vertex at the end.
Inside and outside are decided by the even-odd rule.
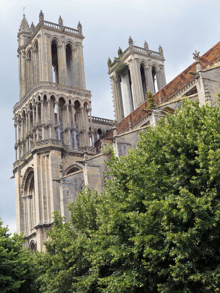
MULTIPOLYGON (((63 171, 82 169, 76 161, 96 153, 91 92, 86 90, 82 25, 77 29, 44 20, 18 33, 19 101, 14 106, 17 233, 26 245, 41 250, 52 213, 68 216, 56 181, 63 171), (54 72, 54 73, 53 73, 54 72), (89 120, 90 115, 90 120, 89 120)), ((67 182, 68 183, 68 182, 67 182)), ((73 184, 73 183, 69 183, 73 184)), ((74 183, 74 200, 83 179, 74 183), (81 180, 81 181, 80 181, 81 180)))

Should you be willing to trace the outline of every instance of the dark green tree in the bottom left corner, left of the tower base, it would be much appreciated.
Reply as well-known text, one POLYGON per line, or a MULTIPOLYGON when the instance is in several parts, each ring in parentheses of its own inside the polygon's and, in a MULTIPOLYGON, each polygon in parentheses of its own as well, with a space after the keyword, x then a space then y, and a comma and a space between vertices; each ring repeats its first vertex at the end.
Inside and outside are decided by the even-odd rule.
MULTIPOLYGON (((0 219, 1 220, 1 219, 0 219)), ((34 254, 23 248, 24 236, 10 237, 8 226, 0 221, 0 292, 38 292, 34 286, 37 270, 32 266, 34 254)))

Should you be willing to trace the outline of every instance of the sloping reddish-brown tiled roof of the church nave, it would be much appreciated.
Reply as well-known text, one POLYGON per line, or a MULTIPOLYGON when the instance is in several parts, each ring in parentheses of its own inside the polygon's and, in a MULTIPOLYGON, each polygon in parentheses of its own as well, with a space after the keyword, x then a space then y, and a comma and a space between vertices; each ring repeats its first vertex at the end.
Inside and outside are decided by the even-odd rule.
MULTIPOLYGON (((218 42, 215 46, 209 49, 205 54, 203 54, 200 58, 200 62, 202 68, 205 69, 207 66, 211 66, 216 61, 220 59, 220 42, 218 42)), ((178 76, 176 76, 171 82, 169 82, 166 86, 164 86, 161 90, 156 92, 153 95, 155 104, 159 104, 158 96, 160 95, 162 102, 166 101, 176 92, 178 92, 185 85, 190 83, 195 77, 192 74, 189 74, 189 71, 196 71, 195 63, 191 64, 187 67, 183 72, 181 72, 178 76)), ((140 111, 141 109, 146 109, 147 101, 141 104, 137 109, 135 109, 132 113, 130 113, 127 117, 125 117, 121 122, 118 123, 118 132, 122 132, 129 129, 128 120, 130 118, 131 126, 140 121, 143 117, 146 116, 146 112, 140 111)), ((111 129, 108 133, 105 134, 105 137, 113 136, 113 130, 111 129)), ((103 136, 102 136, 103 137, 103 136)), ((99 146, 99 140, 95 143, 95 146, 99 146)))

